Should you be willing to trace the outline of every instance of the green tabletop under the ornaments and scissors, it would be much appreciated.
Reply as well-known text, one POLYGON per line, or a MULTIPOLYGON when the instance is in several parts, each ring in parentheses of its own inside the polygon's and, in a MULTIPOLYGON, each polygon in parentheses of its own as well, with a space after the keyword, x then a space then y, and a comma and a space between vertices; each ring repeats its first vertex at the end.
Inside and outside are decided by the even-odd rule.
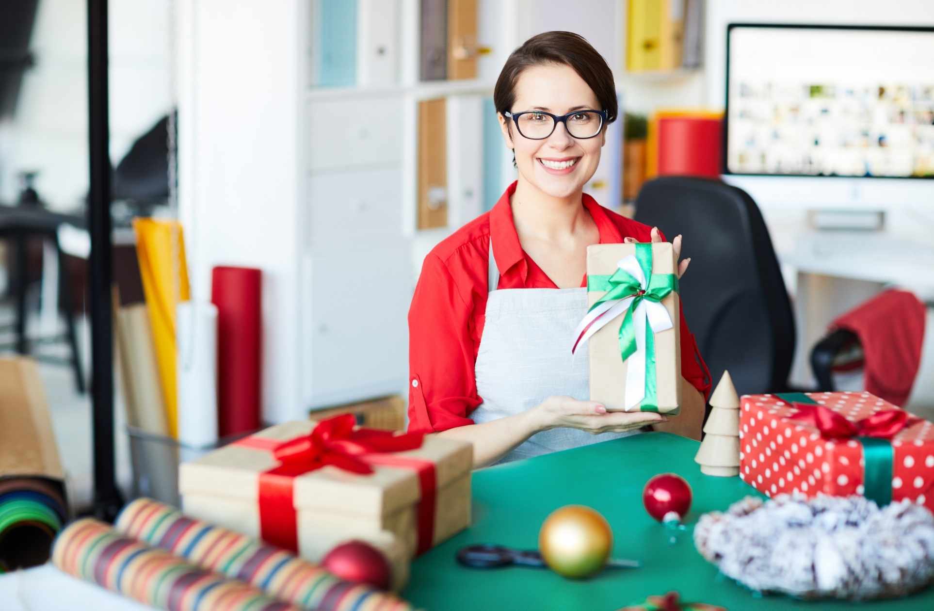
POLYGON ((898 600, 874 603, 805 602, 760 596, 720 575, 694 548, 693 527, 702 513, 758 492, 739 477, 704 476, 694 462, 698 443, 668 433, 644 433, 556 452, 474 472, 470 528, 416 559, 403 590, 418 608, 612 610, 677 590, 683 601, 746 609, 934 610, 934 587, 898 600), (694 491, 686 530, 674 544, 670 532, 645 512, 642 490, 651 476, 672 472, 694 491), (593 507, 613 527, 614 558, 641 561, 639 569, 604 570, 570 580, 546 569, 468 569, 455 561, 460 547, 480 543, 531 549, 553 510, 565 504, 593 507))

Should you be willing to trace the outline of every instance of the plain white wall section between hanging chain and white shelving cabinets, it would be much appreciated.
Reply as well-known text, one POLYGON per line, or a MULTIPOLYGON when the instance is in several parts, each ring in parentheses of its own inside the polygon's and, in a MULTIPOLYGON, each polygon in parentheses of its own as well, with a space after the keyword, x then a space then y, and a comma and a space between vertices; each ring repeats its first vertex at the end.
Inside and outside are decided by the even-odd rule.
POLYGON ((263 417, 294 419, 307 3, 177 5, 179 216, 193 298, 210 299, 214 265, 262 269, 263 417))

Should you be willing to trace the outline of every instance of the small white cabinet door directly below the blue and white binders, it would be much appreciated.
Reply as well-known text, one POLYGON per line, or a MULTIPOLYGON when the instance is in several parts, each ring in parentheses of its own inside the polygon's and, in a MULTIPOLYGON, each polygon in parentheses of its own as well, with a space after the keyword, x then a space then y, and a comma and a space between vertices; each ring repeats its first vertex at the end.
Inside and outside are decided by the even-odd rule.
POLYGON ((398 167, 334 172, 309 178, 310 243, 318 254, 401 235, 402 177, 398 167))

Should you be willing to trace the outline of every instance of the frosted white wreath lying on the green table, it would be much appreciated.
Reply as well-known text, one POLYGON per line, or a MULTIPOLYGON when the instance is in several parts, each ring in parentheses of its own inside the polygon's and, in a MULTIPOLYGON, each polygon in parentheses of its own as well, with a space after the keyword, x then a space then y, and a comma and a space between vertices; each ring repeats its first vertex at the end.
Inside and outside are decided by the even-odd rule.
POLYGON ((801 598, 892 598, 934 581, 934 516, 907 500, 746 497, 701 516, 694 545, 752 590, 801 598))

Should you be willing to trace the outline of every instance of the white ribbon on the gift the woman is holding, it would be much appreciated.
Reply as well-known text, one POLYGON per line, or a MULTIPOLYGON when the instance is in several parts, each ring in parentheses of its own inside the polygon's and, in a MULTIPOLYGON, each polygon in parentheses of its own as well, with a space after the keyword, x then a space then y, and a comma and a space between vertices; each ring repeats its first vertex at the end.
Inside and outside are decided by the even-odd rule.
MULTIPOLYGON (((635 255, 621 259, 616 266, 634 277, 643 291, 648 290, 648 280, 643 274, 642 267, 635 255)), ((584 344, 591 335, 600 331, 617 316, 626 314, 632 304, 634 296, 612 299, 603 302, 587 313, 574 330, 574 346, 572 352, 584 344)), ((625 411, 639 411, 639 404, 645 398, 645 323, 648 321, 653 333, 660 333, 671 329, 674 325, 668 309, 658 302, 640 299, 639 305, 632 311, 633 331, 636 334, 636 351, 630 355, 626 367, 626 396, 623 408, 625 411)))

